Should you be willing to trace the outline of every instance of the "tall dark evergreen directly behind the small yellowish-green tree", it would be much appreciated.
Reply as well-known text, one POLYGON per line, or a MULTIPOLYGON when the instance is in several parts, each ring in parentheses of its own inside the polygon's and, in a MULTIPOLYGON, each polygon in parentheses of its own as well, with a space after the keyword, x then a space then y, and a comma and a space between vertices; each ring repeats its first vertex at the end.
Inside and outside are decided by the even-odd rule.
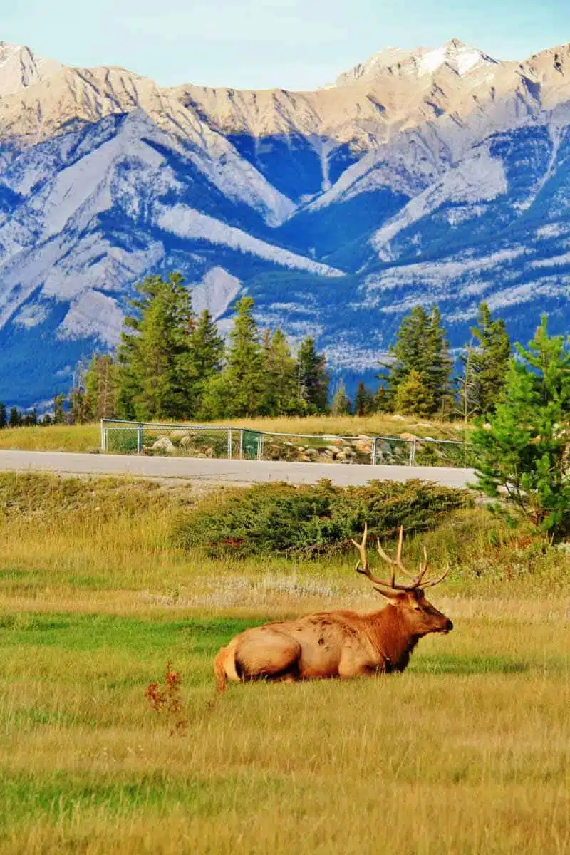
MULTIPOLYGON (((424 415, 430 416, 438 410, 443 413, 450 399, 452 361, 439 310, 434 307, 428 314, 423 306, 415 306, 410 314, 403 318, 397 332, 396 344, 390 347, 390 355, 390 362, 381 363, 388 374, 380 375, 380 380, 386 385, 385 398, 388 406, 395 409, 398 389, 408 381, 414 371, 420 380, 414 377, 408 391, 418 382, 425 389, 426 395, 422 397, 420 404, 424 415), (431 404, 428 403, 430 401, 431 404), (430 410, 426 410, 428 405, 430 410)), ((408 404, 407 400, 406 406, 408 404)), ((402 396, 398 405, 403 405, 402 396)))

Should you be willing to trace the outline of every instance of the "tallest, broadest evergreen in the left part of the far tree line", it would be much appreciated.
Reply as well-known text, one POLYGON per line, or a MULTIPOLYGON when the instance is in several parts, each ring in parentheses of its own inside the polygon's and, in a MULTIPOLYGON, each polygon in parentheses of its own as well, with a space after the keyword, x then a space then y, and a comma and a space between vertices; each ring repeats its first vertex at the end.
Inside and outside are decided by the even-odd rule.
POLYGON ((191 348, 195 316, 179 273, 149 276, 132 300, 132 332, 121 335, 117 409, 126 418, 185 418, 195 408, 197 368, 191 348))

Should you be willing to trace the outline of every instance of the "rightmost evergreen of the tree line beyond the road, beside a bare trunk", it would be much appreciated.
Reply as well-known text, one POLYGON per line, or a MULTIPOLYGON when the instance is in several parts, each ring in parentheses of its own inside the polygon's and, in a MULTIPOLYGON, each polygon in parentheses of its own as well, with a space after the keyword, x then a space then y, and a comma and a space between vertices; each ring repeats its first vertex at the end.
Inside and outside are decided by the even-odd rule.
MULTIPOLYGON (((477 345, 467 351, 461 362, 465 367, 469 360, 470 381, 464 391, 468 402, 464 409, 485 415, 495 409, 505 385, 511 343, 504 321, 493 321, 486 303, 479 306, 477 326, 471 330, 477 345)), ((464 401, 464 404, 466 402, 464 401)))

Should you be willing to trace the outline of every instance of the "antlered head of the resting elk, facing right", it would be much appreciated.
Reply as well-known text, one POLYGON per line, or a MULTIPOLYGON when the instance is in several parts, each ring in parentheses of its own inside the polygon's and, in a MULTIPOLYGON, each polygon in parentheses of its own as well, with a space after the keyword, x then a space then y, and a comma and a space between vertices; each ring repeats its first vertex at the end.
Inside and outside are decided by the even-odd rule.
POLYGON ((380 546, 380 541, 377 540, 379 556, 391 567, 390 581, 379 579, 378 576, 373 575, 368 565, 366 554, 367 534, 368 527, 367 523, 365 523, 362 542, 356 543, 356 540, 352 541, 360 554, 360 560, 356 564, 356 572, 367 576, 373 582, 374 589, 387 598, 393 607, 399 610, 406 623, 408 632, 416 638, 420 638, 420 636, 428 633, 449 633, 453 629, 453 623, 441 611, 438 611, 428 602, 424 594, 426 587, 433 587, 434 585, 438 585, 440 581, 443 581, 448 574, 448 570, 439 576, 438 579, 424 581, 428 566, 427 552, 424 548, 424 561, 420 563, 417 575, 414 576, 408 573, 402 562, 403 528, 400 527, 396 558, 386 555, 380 546), (408 584, 398 583, 396 581, 396 569, 401 570, 411 581, 408 584))

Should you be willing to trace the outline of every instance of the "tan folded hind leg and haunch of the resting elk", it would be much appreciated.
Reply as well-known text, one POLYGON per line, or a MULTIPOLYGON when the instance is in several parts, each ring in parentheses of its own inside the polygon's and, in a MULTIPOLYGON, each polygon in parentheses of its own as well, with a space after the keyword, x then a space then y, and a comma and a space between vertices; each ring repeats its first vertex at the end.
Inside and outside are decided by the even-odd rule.
POLYGON ((301 645, 285 633, 259 629, 240 641, 236 669, 242 680, 295 680, 301 645))

